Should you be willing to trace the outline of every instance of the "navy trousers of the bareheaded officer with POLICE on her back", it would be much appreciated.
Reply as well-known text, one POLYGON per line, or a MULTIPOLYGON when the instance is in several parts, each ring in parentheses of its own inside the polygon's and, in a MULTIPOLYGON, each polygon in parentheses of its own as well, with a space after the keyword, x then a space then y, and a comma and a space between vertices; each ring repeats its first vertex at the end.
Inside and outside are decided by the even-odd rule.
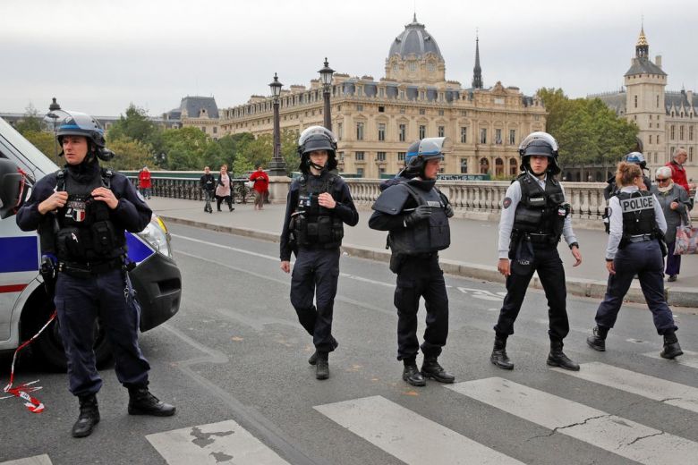
POLYGON ((609 275, 606 295, 596 310, 596 325, 610 329, 616 324, 623 298, 636 274, 640 278, 644 300, 652 312, 657 333, 663 335, 668 329, 676 331, 674 317, 664 299, 664 261, 659 242, 629 242, 625 248, 617 251, 613 266, 616 274, 609 275))

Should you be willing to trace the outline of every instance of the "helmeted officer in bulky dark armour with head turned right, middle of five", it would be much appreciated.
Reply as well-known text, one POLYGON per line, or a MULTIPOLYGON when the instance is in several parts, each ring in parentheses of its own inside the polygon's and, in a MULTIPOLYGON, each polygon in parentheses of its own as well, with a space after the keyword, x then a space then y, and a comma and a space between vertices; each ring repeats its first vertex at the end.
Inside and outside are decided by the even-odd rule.
POLYGON ((371 229, 389 231, 390 270, 397 275, 397 359, 403 360, 404 381, 414 386, 426 385, 426 377, 440 383, 455 381, 455 376, 438 363, 448 335, 448 297, 438 250, 451 243, 448 218, 453 216, 453 208, 435 184, 449 144, 447 138, 412 144, 407 166, 376 199, 369 220, 371 229), (417 311, 421 297, 427 309, 427 328, 419 370, 417 311))

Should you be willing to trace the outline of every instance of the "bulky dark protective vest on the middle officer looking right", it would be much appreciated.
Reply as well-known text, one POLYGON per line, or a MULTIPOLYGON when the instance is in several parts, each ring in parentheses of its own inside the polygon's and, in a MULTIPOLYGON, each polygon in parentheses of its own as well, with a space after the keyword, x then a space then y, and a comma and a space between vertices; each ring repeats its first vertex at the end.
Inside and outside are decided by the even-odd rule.
POLYGON ((416 189, 407 182, 402 187, 410 191, 417 205, 431 207, 429 220, 417 222, 406 228, 390 231, 388 243, 393 253, 416 255, 447 249, 451 245, 451 229, 446 216, 446 202, 436 188, 416 189))

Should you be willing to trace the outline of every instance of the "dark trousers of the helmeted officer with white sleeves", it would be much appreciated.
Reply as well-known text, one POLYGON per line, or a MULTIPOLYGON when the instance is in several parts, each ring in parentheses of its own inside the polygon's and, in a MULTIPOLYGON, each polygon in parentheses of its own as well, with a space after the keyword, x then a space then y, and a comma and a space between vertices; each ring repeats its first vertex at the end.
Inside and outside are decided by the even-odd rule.
POLYGON ((514 334, 514 322, 524 303, 528 284, 531 283, 533 273, 538 271, 545 297, 548 299, 550 341, 562 342, 569 333, 569 320, 566 310, 565 269, 558 254, 557 244, 535 244, 533 255, 530 265, 511 261, 511 275, 506 277, 506 297, 494 330, 500 337, 514 334))

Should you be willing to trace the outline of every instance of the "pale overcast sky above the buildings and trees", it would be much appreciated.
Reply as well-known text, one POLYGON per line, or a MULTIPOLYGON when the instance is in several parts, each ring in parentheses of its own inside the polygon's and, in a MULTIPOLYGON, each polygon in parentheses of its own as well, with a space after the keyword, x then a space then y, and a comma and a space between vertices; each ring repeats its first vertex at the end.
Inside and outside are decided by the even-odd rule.
POLYGON ((393 40, 417 19, 448 80, 470 87, 480 34, 485 87, 570 97, 619 89, 644 17, 668 90, 698 90, 695 0, 0 0, 0 112, 64 109, 159 115, 185 96, 217 106, 337 72, 384 76, 393 40))

